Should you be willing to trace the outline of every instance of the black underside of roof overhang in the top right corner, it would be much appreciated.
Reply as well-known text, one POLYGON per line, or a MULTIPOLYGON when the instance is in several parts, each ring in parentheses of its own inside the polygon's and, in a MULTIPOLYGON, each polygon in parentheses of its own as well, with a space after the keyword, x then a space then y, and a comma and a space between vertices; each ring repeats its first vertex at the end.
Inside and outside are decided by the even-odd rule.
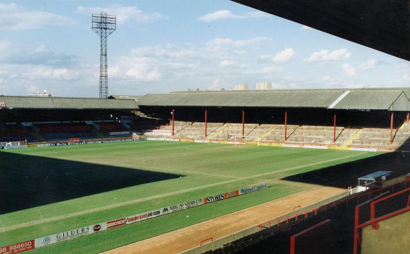
POLYGON ((410 1, 232 1, 410 60, 410 1))

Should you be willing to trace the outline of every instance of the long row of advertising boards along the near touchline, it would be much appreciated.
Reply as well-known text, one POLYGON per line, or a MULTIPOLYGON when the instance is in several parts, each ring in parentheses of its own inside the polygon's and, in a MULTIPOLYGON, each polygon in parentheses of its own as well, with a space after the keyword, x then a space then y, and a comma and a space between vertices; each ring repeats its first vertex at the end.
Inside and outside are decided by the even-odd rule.
POLYGON ((162 207, 162 208, 151 210, 151 211, 146 211, 144 213, 111 220, 111 221, 106 221, 106 222, 102 222, 102 223, 98 223, 98 224, 94 224, 90 226, 85 226, 85 227, 80 227, 80 228, 76 228, 72 230, 62 231, 57 234, 52 234, 52 235, 48 235, 45 237, 36 238, 34 240, 0 247, 0 254, 14 254, 14 253, 19 253, 19 252, 23 252, 26 250, 34 249, 34 248, 48 246, 54 243, 64 242, 70 239, 87 236, 90 234, 94 234, 96 232, 100 232, 100 231, 104 231, 104 230, 108 230, 112 228, 117 228, 120 226, 132 224, 138 221, 148 220, 148 219, 155 218, 161 215, 175 213, 176 211, 185 210, 185 209, 189 209, 192 207, 196 207, 196 206, 200 206, 200 205, 204 205, 208 203, 213 203, 219 200, 233 198, 233 197, 236 197, 242 194, 256 192, 257 190, 261 190, 267 187, 268 187, 268 184, 263 183, 263 184, 259 184, 259 185, 255 185, 251 187, 236 189, 236 190, 233 190, 232 192, 225 192, 225 193, 217 194, 214 196, 209 196, 209 197, 199 198, 199 199, 195 199, 195 200, 191 200, 191 201, 187 201, 187 202, 183 202, 179 204, 174 204, 174 205, 162 207))

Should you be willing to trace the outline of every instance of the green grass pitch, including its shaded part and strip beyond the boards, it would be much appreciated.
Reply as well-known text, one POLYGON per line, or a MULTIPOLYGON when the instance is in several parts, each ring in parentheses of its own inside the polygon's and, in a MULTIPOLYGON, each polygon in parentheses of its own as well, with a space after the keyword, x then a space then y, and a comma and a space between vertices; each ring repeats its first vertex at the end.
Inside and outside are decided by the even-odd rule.
POLYGON ((375 155, 161 141, 2 151, 0 246, 268 182, 259 192, 31 251, 97 253, 312 188, 281 179, 375 155))

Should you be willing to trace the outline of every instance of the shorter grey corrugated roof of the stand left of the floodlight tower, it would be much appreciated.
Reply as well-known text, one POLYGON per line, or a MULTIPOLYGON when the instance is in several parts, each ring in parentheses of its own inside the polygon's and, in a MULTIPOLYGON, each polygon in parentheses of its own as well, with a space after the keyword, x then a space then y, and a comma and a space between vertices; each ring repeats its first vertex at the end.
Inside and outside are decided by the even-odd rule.
POLYGON ((137 109, 135 100, 98 98, 0 96, 9 109, 137 109))

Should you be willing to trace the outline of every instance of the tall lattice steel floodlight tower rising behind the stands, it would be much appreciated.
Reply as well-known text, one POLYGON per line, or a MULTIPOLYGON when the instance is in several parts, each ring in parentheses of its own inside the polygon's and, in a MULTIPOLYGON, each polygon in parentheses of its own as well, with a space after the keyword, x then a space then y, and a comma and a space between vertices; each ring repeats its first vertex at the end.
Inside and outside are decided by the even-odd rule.
POLYGON ((92 14, 91 28, 101 40, 100 66, 99 66, 99 97, 108 97, 108 73, 107 73, 107 37, 115 31, 117 20, 115 15, 107 15, 107 12, 92 14))

